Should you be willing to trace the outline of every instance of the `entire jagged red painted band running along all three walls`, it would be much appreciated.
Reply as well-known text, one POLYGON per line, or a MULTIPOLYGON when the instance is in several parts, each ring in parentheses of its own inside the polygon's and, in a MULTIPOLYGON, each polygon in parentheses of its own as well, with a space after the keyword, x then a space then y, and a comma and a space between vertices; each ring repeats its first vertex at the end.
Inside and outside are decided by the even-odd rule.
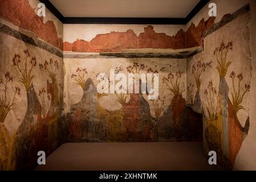
MULTIPOLYGON (((63 49, 63 40, 58 38, 56 27, 52 21, 43 23, 43 17, 35 14, 34 9, 27 0, 0 0, 0 18, 14 23, 16 26, 31 31, 52 46, 63 49)), ((226 19, 229 15, 224 15, 226 19)), ((74 52, 115 52, 131 48, 189 48, 202 46, 202 36, 214 24, 213 17, 204 18, 198 26, 192 23, 188 30, 179 30, 176 35, 168 36, 156 33, 153 26, 144 28, 139 36, 133 30, 126 32, 110 32, 96 35, 90 42, 76 40, 73 43, 64 42, 64 51, 74 52)))

